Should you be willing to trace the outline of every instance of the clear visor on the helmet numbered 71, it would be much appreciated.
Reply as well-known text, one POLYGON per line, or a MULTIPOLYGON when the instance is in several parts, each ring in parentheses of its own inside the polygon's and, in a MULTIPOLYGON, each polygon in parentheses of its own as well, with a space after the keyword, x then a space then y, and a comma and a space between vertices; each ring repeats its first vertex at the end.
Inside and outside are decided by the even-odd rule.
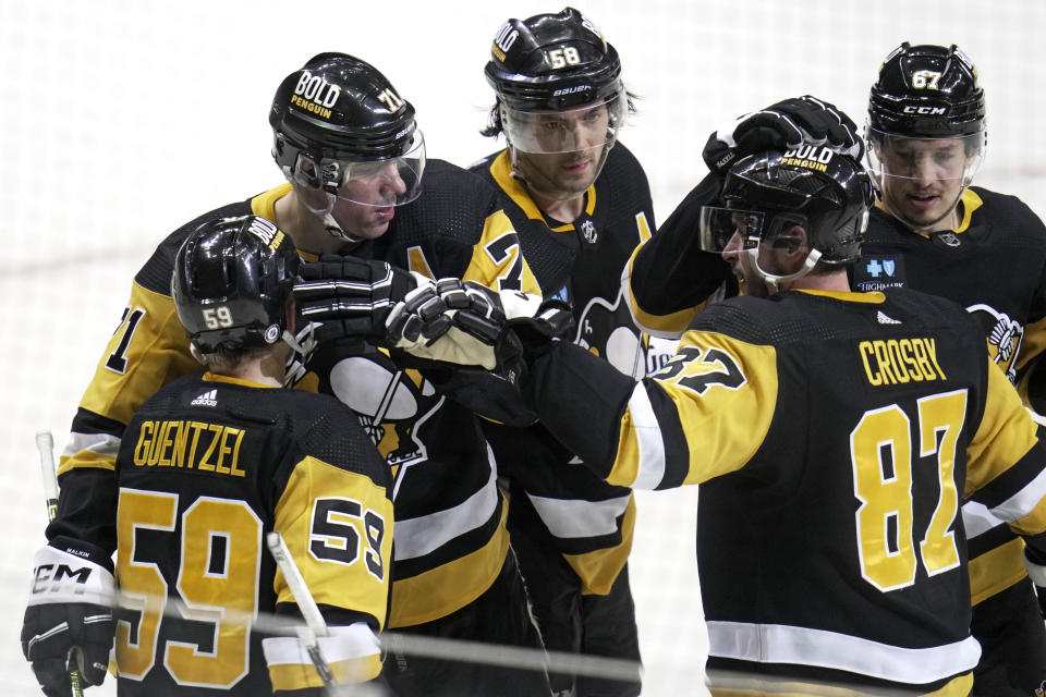
POLYGON ((425 138, 415 132, 406 152, 386 160, 323 161, 324 188, 338 198, 388 208, 409 204, 422 193, 425 138))

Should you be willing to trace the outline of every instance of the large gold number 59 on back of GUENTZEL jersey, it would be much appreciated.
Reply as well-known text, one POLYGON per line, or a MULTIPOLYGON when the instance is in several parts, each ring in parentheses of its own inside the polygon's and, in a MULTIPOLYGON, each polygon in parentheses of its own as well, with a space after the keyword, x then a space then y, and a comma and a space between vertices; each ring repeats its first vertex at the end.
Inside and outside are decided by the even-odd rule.
MULTIPOLYGON (((168 584, 155 562, 138 559, 138 535, 174 531, 178 494, 121 489, 118 511, 121 590, 143 600, 136 632, 129 622, 117 625, 117 664, 121 675, 142 678, 156 662, 168 584)), ((222 620, 229 610, 257 611, 262 521, 243 501, 200 497, 181 523, 175 587, 182 613, 215 623, 215 640, 209 646, 170 641, 163 664, 180 685, 228 688, 247 672, 250 634, 247 626, 222 620)))

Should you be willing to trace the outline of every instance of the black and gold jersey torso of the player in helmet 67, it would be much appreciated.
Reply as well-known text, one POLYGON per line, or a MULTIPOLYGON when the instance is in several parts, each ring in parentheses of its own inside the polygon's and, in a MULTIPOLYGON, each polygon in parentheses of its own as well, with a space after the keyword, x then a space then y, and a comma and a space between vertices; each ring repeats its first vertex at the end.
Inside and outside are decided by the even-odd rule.
MULTIPOLYGON (((989 354, 1015 382, 1046 347, 1046 228, 1020 199, 981 187, 963 193, 960 210, 954 230, 929 235, 873 210, 852 285, 904 286, 956 301, 977 318, 989 354)), ((1024 578, 1023 545, 976 502, 963 506, 963 518, 978 603, 1024 578)))

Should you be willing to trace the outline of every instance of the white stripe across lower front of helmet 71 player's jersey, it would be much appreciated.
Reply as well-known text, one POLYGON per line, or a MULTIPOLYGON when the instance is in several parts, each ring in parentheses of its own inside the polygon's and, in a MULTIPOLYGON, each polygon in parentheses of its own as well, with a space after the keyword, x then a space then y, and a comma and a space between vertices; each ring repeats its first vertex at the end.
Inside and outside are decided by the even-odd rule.
POLYGON ((450 540, 485 525, 498 508, 498 470, 487 445, 490 478, 478 491, 455 506, 416 518, 396 521, 394 560, 416 559, 450 540))

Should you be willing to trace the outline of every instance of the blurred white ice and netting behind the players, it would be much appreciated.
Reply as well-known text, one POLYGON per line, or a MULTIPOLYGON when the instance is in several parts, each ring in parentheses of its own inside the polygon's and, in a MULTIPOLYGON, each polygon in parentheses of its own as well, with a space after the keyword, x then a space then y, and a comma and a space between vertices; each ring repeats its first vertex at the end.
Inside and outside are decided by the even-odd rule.
MULTIPOLYGON (((577 5, 622 56, 640 114, 622 135, 647 170, 659 219, 704 174, 718 124, 815 94, 863 122, 879 61, 901 40, 959 44, 987 91, 977 178, 1046 211, 1037 36, 1046 5, 947 0, 592 0, 577 5)), ((36 694, 17 649, 45 509, 33 435, 59 448, 130 281, 185 220, 281 180, 267 109, 278 81, 320 50, 374 62, 417 109, 431 157, 467 164, 491 96, 482 76, 509 14, 534 2, 182 3, 0 0, 0 486, 5 694, 36 694)), ((696 491, 643 493, 632 587, 644 695, 702 694, 706 639, 693 560, 696 491)), ((111 685, 96 694, 114 694, 111 685), (108 690, 108 692, 107 692, 108 690)))

